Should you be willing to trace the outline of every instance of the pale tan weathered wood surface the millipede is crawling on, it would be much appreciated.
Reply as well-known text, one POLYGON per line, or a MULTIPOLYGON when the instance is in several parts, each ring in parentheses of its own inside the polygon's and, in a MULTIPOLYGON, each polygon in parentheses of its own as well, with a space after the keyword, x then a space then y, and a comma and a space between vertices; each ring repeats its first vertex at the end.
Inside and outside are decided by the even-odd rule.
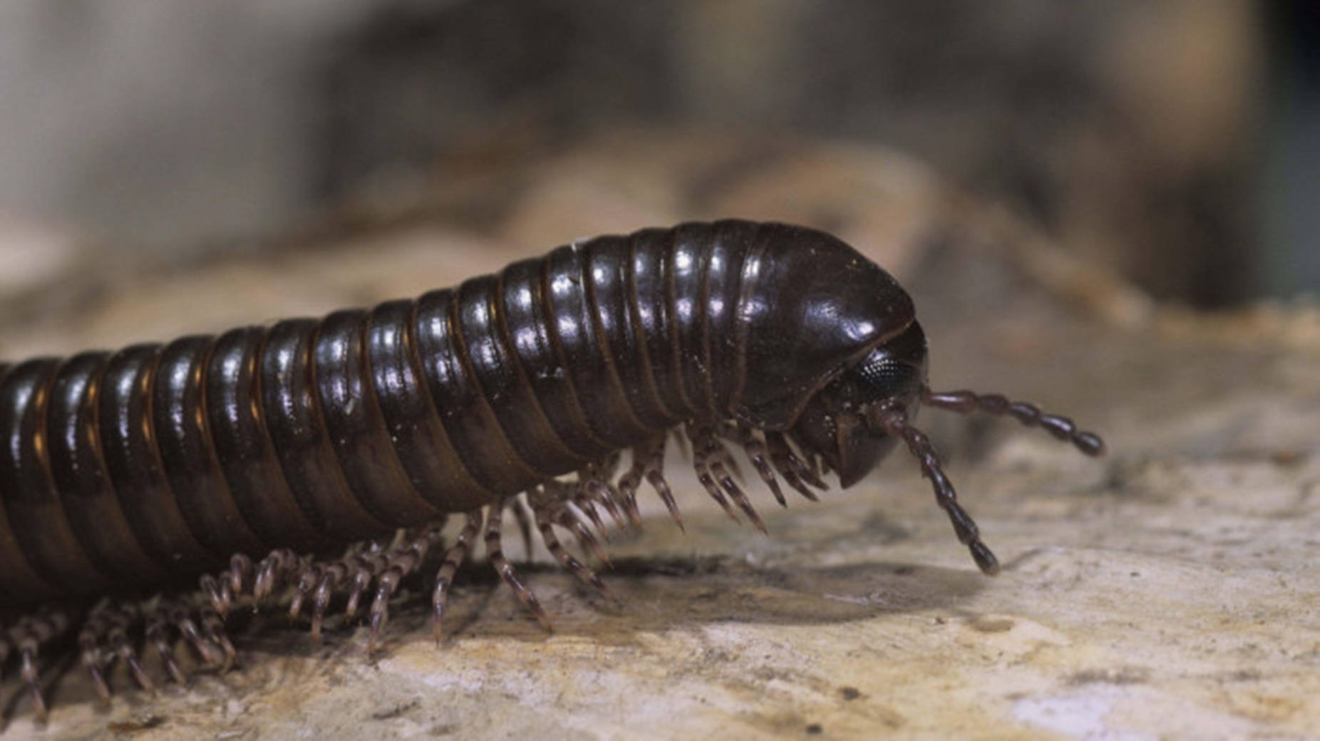
POLYGON ((0 348, 370 303, 495 268, 517 245, 692 215, 832 222, 912 289, 933 385, 1038 401, 1109 442, 1092 460, 1008 422, 921 415, 999 578, 975 570, 902 455, 788 510, 750 484, 770 537, 704 501, 672 456, 686 534, 647 498, 645 533, 610 547, 622 605, 539 551, 527 576, 553 633, 474 575, 440 647, 418 600, 399 605, 376 661, 363 630, 319 649, 300 632, 244 632, 238 671, 156 697, 120 692, 110 709, 73 675, 49 726, 20 701, 5 737, 1320 737, 1313 307, 1151 310, 1010 239, 1002 219, 968 216, 884 153, 779 145, 754 177, 730 165, 702 181, 702 146, 725 144, 661 144, 651 160, 614 157, 614 142, 532 170, 494 229, 408 223, 323 252, 116 280, 9 327, 0 348), (693 183, 708 189, 700 207, 676 195, 693 183), (583 212, 595 216, 570 219, 583 212))

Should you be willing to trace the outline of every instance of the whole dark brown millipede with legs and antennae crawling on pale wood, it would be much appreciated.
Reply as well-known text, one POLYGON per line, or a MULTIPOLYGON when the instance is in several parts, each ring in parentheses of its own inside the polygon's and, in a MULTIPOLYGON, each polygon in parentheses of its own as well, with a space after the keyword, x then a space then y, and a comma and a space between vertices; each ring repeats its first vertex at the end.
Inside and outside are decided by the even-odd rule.
POLYGON ((642 487, 682 527, 664 477, 675 438, 723 512, 762 530, 738 460, 785 505, 784 487, 816 500, 828 476, 850 487, 902 444, 997 574, 915 426, 921 406, 1104 451, 1034 405, 932 390, 903 287, 843 241, 779 223, 601 236, 370 310, 3 364, 0 672, 41 719, 58 646, 106 699, 115 662, 153 686, 147 651, 182 683, 177 650, 228 667, 234 607, 272 599, 310 614, 313 641, 331 605, 359 616, 370 653, 426 564, 438 639, 477 545, 549 626, 503 552, 504 513, 609 595, 593 566, 609 563, 607 522, 640 526, 642 487))

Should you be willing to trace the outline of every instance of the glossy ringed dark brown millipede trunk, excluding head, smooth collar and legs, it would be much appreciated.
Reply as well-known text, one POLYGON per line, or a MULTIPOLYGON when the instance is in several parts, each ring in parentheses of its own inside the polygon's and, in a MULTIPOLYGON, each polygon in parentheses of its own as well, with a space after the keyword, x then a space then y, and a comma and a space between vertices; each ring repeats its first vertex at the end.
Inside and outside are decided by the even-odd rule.
POLYGON ((730 418, 739 323, 774 319, 804 235, 599 237, 416 301, 5 367, 0 605, 379 537, 730 418))

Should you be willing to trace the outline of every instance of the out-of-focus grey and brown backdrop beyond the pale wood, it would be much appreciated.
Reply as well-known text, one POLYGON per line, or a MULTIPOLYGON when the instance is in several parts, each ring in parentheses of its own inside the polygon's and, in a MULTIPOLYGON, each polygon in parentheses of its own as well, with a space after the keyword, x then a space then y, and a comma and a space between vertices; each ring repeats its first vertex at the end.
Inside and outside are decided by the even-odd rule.
POLYGON ((1317 17, 1309 0, 9 0, 0 291, 54 311, 120 273, 418 223, 520 251, 714 204, 838 228, 866 211, 850 153, 884 152, 876 171, 932 173, 1155 299, 1292 299, 1320 286, 1317 17), (775 170, 810 142, 851 174, 775 170), (632 175, 599 177, 615 165, 632 175), (677 196, 628 207, 655 202, 651 175, 677 196), (582 183, 594 200, 550 195, 582 183))

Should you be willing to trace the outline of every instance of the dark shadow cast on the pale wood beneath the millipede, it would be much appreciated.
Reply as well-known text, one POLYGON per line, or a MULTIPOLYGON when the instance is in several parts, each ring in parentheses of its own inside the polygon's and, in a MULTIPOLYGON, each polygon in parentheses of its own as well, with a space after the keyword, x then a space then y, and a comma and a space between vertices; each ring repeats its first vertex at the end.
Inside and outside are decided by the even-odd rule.
MULTIPOLYGON (((554 632, 546 633, 523 613, 521 607, 499 578, 487 568, 469 568, 459 578, 451 618, 445 638, 436 650, 465 638, 544 642, 552 636, 582 636, 605 643, 627 643, 638 634, 685 630, 721 622, 768 625, 829 625, 929 609, 956 608, 985 588, 985 579, 958 570, 906 563, 859 562, 825 567, 751 566, 725 556, 640 558, 624 556, 606 571, 610 587, 619 597, 614 604, 577 584, 570 575, 549 563, 523 563, 519 570, 528 583, 554 605, 554 632), (507 600, 503 604, 502 600, 507 600)), ((372 663, 388 658, 400 646, 432 642, 429 584, 411 579, 391 603, 391 621, 383 646, 374 657, 364 653, 360 620, 342 616, 327 618, 323 641, 313 646, 306 621, 290 624, 286 613, 272 604, 253 613, 247 607, 230 616, 228 632, 239 650, 239 662, 226 684, 240 691, 244 674, 276 657, 313 657, 325 662, 372 663), (236 686, 234 683, 236 683, 236 686)), ((51 654, 42 671, 42 684, 53 705, 96 701, 90 682, 81 671, 77 651, 69 641, 51 654)), ((186 654, 187 651, 180 651, 186 654)), ((183 655, 183 659, 190 657, 183 655)), ((154 657, 144 665, 160 687, 170 687, 154 657)), ((190 668, 198 668, 195 665, 190 668)), ((257 672, 260 674, 260 672, 257 672)), ((255 679, 255 678, 252 678, 255 679)), ((259 679, 255 679, 260 682, 259 679)), ((197 679, 191 684, 197 684, 197 679)), ((131 686, 121 671, 112 679, 116 697, 150 697, 131 686)), ((28 694, 21 683, 4 683, 0 720, 29 712, 28 694)))

